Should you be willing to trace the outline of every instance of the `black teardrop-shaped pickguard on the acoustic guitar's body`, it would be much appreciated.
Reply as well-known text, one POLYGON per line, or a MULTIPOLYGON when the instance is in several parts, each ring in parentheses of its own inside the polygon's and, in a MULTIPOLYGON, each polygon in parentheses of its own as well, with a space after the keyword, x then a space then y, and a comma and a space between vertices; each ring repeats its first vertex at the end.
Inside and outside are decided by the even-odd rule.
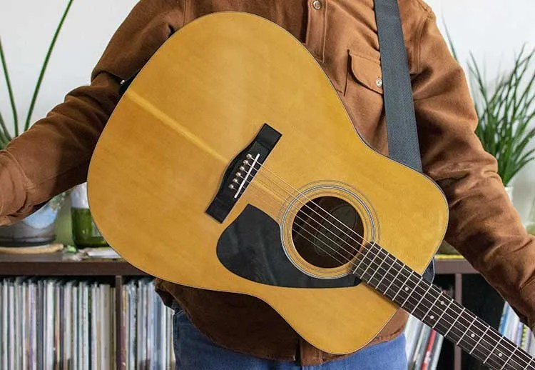
POLYGON ((360 283, 352 274, 339 279, 317 279, 302 273, 282 249, 277 222, 251 205, 246 206, 220 236, 217 254, 229 271, 262 284, 293 288, 342 288, 360 283))

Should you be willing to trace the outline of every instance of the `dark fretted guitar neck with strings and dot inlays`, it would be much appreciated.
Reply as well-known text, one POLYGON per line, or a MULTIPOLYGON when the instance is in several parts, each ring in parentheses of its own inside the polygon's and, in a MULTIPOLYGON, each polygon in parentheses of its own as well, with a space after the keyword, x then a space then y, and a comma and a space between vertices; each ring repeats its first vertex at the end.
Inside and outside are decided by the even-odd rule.
POLYGON ((491 369, 535 369, 535 359, 381 247, 370 244, 353 273, 491 369))

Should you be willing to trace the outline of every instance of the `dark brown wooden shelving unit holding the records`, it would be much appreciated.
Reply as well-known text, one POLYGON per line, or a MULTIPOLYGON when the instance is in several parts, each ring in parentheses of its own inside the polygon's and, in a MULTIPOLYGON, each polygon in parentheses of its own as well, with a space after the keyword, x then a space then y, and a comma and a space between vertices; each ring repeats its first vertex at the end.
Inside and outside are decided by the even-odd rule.
MULTIPOLYGON (((454 281, 454 299, 462 301, 462 276, 477 274, 464 259, 435 259, 438 276, 451 276, 454 281)), ((113 280, 116 287, 122 286, 128 276, 147 276, 143 271, 123 260, 86 259, 72 261, 65 254, 7 255, 0 254, 0 276, 100 276, 113 280)), ((116 289, 116 331, 120 332, 122 299, 121 289, 116 289)), ((116 336, 117 369, 124 369, 125 346, 121 336, 116 336)), ((453 369, 461 370, 461 349, 454 348, 453 369)))

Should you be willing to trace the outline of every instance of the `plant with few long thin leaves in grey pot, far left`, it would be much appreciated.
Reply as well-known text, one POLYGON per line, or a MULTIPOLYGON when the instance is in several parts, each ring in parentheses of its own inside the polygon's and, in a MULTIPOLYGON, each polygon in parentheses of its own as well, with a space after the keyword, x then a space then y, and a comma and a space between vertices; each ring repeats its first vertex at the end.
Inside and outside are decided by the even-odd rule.
MULTIPOLYGON (((16 104, 14 101, 13 89, 11 88, 11 81, 9 79, 9 73, 7 69, 6 56, 4 54, 4 49, 2 48, 0 40, 0 61, 1 68, 4 74, 4 79, 6 81, 7 92, 9 95, 9 101, 11 104, 11 114, 13 121, 11 125, 8 125, 8 122, 4 121, 4 116, 0 112, 0 149, 5 149, 8 146, 9 141, 14 137, 19 136, 22 132, 26 131, 30 127, 31 123, 31 114, 34 111, 34 106, 36 103, 37 96, 39 94, 39 89, 41 88, 41 82, 46 71, 46 67, 49 64, 49 59, 54 50, 56 44, 56 39, 58 34, 61 31, 63 22, 66 19, 69 9, 71 8, 73 0, 69 0, 66 6, 66 9, 63 11, 61 20, 59 21, 54 37, 52 38, 49 49, 46 53, 44 63, 41 66, 41 71, 39 78, 37 79, 36 86, 34 89, 34 94, 31 99, 31 103, 28 109, 28 114, 26 115, 26 120, 24 124, 19 122, 19 116, 16 110, 16 104), (10 130, 11 127, 12 129, 10 130)), ((11 225, 11 226, 0 226, 0 246, 41 246, 50 244, 56 236, 54 234, 54 224, 56 221, 56 216, 58 214, 59 208, 63 203, 65 194, 60 194, 47 204, 45 204, 39 211, 36 211, 31 216, 26 219, 11 225)))

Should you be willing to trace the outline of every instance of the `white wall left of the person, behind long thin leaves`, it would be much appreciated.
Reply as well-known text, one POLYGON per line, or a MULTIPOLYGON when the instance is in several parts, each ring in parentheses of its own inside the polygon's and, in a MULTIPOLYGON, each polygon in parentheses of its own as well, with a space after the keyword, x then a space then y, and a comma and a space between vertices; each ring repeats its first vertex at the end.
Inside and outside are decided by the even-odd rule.
MULTIPOLYGON (((33 121, 63 101, 68 91, 88 84, 91 70, 113 31, 136 2, 73 1, 49 61, 33 121)), ((19 119, 26 119, 46 50, 67 3, 68 0, 0 1, 0 37, 8 61, 19 119)), ((3 78, 0 79, 0 110, 4 119, 11 121, 3 78)))

